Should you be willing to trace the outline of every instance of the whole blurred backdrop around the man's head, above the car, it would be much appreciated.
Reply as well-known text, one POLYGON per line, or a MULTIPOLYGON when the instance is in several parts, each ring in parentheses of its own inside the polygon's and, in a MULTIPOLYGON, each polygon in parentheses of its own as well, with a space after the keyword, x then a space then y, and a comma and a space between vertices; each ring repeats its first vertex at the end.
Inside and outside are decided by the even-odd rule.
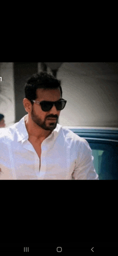
POLYGON ((27 114, 24 86, 40 71, 61 79, 67 105, 60 113, 60 125, 118 127, 118 62, 0 62, 0 114, 5 127, 27 114))

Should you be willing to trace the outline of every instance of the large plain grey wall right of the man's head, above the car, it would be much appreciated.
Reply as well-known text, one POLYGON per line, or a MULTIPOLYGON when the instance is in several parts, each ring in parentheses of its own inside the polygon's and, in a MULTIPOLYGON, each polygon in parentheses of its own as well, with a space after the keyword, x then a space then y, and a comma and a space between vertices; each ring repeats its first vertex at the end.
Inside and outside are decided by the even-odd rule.
POLYGON ((57 72, 67 105, 62 126, 118 127, 117 74, 105 63, 63 63, 57 72))

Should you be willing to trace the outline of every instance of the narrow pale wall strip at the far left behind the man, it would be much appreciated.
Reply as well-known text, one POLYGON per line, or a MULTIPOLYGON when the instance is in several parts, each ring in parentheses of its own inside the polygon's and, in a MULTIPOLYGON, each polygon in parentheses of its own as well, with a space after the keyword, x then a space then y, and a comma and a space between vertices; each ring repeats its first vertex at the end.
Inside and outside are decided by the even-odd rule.
POLYGON ((0 113, 3 114, 6 127, 15 120, 13 62, 0 63, 0 113))

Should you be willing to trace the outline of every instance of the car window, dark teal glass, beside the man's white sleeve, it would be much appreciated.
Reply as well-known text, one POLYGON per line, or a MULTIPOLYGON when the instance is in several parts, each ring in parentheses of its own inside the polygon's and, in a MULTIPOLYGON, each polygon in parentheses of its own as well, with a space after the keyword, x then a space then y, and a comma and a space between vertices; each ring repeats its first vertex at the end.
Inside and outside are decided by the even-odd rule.
POLYGON ((101 180, 118 179, 118 154, 115 142, 91 142, 87 140, 94 157, 94 169, 101 180))

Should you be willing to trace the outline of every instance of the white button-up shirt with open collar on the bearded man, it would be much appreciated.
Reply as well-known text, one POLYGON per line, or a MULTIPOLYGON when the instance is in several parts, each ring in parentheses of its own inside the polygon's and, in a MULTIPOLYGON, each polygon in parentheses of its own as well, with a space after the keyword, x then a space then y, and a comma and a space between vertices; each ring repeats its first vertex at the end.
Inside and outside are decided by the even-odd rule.
POLYGON ((58 123, 41 144, 40 166, 40 159, 28 141, 25 116, 14 125, 0 129, 0 179, 99 179, 89 143, 58 123))

